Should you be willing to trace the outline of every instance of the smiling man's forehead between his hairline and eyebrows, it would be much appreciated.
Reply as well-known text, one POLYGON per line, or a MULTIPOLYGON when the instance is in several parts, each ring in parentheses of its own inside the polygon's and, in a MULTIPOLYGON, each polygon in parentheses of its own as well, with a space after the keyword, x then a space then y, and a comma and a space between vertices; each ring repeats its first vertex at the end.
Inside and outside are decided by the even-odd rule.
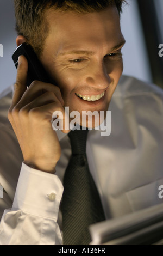
POLYGON ((83 45, 90 47, 92 42, 95 45, 108 45, 122 41, 120 16, 116 7, 87 14, 51 10, 46 14, 46 19, 49 26, 47 42, 62 50, 81 48, 83 45))

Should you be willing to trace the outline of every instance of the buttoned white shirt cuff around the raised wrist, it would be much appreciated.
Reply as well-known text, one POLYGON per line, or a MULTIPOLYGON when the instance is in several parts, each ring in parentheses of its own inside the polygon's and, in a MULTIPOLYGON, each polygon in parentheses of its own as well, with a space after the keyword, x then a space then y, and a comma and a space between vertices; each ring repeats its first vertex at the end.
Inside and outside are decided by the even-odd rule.
POLYGON ((57 175, 33 169, 22 163, 12 210, 57 221, 64 188, 57 175))

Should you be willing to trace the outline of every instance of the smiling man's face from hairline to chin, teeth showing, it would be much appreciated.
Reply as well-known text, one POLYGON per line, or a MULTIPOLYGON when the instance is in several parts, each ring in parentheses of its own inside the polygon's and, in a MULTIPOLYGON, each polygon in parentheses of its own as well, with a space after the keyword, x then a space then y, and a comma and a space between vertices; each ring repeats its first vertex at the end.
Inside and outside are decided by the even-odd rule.
POLYGON ((65 106, 80 115, 106 112, 123 71, 124 38, 116 7, 91 14, 51 11, 47 20, 41 62, 59 86, 65 106))

